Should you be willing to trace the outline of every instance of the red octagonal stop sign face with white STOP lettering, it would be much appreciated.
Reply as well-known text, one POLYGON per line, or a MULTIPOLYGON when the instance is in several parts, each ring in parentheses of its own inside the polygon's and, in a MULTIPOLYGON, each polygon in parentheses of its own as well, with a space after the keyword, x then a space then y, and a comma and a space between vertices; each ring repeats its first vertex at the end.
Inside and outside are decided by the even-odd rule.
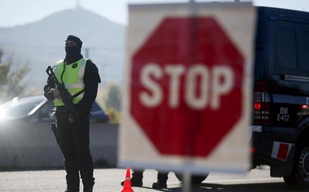
POLYGON ((130 113, 159 153, 208 156, 242 116, 244 59, 214 18, 163 20, 130 75, 130 113))

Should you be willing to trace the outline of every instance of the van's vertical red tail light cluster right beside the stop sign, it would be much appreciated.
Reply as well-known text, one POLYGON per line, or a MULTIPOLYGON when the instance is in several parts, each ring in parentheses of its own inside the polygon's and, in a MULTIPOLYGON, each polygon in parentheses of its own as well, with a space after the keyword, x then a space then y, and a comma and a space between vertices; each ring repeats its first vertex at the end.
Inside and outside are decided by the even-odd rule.
POLYGON ((270 81, 256 81, 254 88, 254 125, 270 124, 270 81))

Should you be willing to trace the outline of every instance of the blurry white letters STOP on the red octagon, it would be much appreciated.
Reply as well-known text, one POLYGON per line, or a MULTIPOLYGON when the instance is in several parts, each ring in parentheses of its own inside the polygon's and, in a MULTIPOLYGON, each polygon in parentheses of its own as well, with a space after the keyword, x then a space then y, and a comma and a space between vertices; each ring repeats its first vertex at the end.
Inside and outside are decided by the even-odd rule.
POLYGON ((157 107, 161 104, 164 94, 168 94, 168 104, 171 108, 179 106, 180 85, 185 83, 185 103, 192 109, 210 107, 213 110, 221 107, 221 97, 228 95, 234 85, 232 69, 226 65, 215 65, 211 69, 204 64, 194 64, 185 69, 183 64, 167 64, 164 68, 159 64, 150 63, 142 68, 140 83, 147 91, 140 92, 140 102, 147 107, 157 107), (162 88, 154 81, 164 75, 169 76, 169 92, 162 92, 162 88), (185 75, 185 82, 180 82, 180 76, 185 75), (201 78, 200 83, 197 79, 201 78), (196 92, 200 94, 197 96, 196 92), (211 91, 209 91, 211 90, 211 91))

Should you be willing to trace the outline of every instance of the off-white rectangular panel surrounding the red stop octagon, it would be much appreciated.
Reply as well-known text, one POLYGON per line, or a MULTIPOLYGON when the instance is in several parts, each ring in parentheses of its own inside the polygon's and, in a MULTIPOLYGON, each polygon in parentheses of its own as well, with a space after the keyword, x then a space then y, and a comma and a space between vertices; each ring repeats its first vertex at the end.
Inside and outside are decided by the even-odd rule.
MULTIPOLYGON (((123 100, 123 114, 122 114, 122 122, 121 124, 121 132, 120 132, 120 145, 119 145, 119 161, 118 165, 120 167, 136 167, 136 168, 155 168, 159 170, 171 170, 171 171, 193 171, 193 172, 209 172, 209 171, 215 171, 215 172, 244 172, 246 170, 249 170, 249 161, 250 161, 250 150, 249 150, 249 126, 248 130, 244 130, 244 126, 249 125, 249 119, 251 118, 251 108, 248 107, 251 104, 251 67, 250 64, 252 63, 252 57, 253 57, 253 51, 250 48, 246 48, 245 46, 241 46, 244 43, 244 34, 242 33, 228 33, 230 36, 230 39, 232 39, 235 42, 235 45, 237 48, 239 48, 240 52, 243 53, 245 56, 246 62, 250 63, 246 65, 246 77, 244 79, 247 79, 244 83, 244 100, 242 100, 244 106, 244 115, 242 116, 242 119, 239 120, 237 125, 235 125, 235 128, 232 128, 232 131, 225 136, 221 144, 219 144, 215 150, 213 150, 213 153, 207 158, 185 158, 185 157, 179 157, 179 156, 162 156, 158 153, 158 151, 155 149, 155 147, 151 144, 149 139, 147 139, 147 136, 145 133, 138 128, 138 123, 136 123, 133 119, 133 117, 129 113, 129 85, 131 83, 131 79, 129 77, 130 72, 130 62, 131 62, 131 56, 133 53, 136 53, 136 50, 140 48, 141 45, 145 42, 148 35, 152 33, 152 31, 159 25, 159 22, 161 22, 164 18, 168 16, 179 16, 184 17, 188 16, 190 12, 190 8, 187 6, 188 4, 171 4, 167 6, 166 4, 155 5, 156 11, 151 11, 154 5, 134 5, 129 6, 130 10, 133 12, 130 15, 129 20, 129 39, 128 39, 128 45, 127 45, 127 57, 126 57, 126 74, 124 79, 124 95, 128 97, 124 97, 123 100), (171 6, 176 6, 176 8, 179 8, 178 11, 171 11, 171 6), (165 12, 165 13, 162 13, 165 12), (140 27, 140 23, 145 20, 145 17, 142 17, 143 14, 150 14, 152 15, 151 19, 147 19, 148 23, 152 23, 152 27, 145 27, 145 31, 142 34, 138 34, 136 36, 132 36, 131 34, 136 33, 136 29, 140 27), (167 14, 168 13, 168 14, 167 14), (245 132, 245 134, 244 134, 245 132), (242 139, 239 139, 238 135, 246 135, 247 137, 242 139), (132 135, 133 137, 128 137, 128 135, 132 135), (237 138, 237 139, 235 139, 237 138), (237 149, 237 146, 247 146, 244 147, 244 149, 239 150, 237 149), (235 144, 235 146, 232 146, 231 144, 235 144), (138 148, 136 150, 132 150, 127 147, 128 145, 133 146, 143 146, 141 148, 138 148), (229 146, 230 150, 226 151, 225 147, 229 146), (243 155, 243 150, 246 150, 243 155), (242 159, 237 159, 234 161, 231 159, 232 157, 237 156, 244 156, 242 159), (228 159, 228 164, 226 163, 226 160, 228 159), (232 163, 232 162, 236 162, 232 163)), ((237 11, 237 13, 241 13, 246 15, 246 9, 251 9, 251 15, 249 14, 249 17, 242 15, 242 17, 245 18, 246 22, 249 20, 255 20, 255 9, 251 6, 251 4, 230 4, 230 3, 221 3, 221 6, 218 6, 218 4, 210 6, 209 3, 206 4, 199 4, 198 14, 197 15, 203 15, 203 16, 212 16, 215 17, 218 22, 221 23, 221 27, 225 28, 226 32, 230 32, 235 28, 235 23, 233 24, 232 20, 228 22, 228 25, 225 24, 227 15, 220 14, 218 12, 218 8, 221 8, 221 6, 224 6, 225 9, 228 9, 228 18, 232 18, 231 15, 235 15, 233 11, 231 11, 231 7, 239 7, 243 8, 244 12, 237 11)), ((223 8, 223 9, 224 9, 223 8)), ((250 12, 250 11, 249 11, 250 12)), ((252 23, 254 25, 255 23, 252 23)), ((251 26, 251 39, 253 41, 254 38, 254 26, 251 26)))

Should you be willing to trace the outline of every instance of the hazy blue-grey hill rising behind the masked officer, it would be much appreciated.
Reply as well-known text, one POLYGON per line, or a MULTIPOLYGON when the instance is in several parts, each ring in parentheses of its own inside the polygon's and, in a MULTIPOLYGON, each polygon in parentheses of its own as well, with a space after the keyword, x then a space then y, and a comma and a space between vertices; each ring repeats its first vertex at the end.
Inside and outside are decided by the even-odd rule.
POLYGON ((68 9, 27 25, 0 28, 4 60, 13 57, 15 67, 29 64, 33 88, 41 91, 48 65, 65 57, 65 39, 79 36, 82 55, 97 65, 103 83, 121 83, 126 27, 84 8, 68 9))

